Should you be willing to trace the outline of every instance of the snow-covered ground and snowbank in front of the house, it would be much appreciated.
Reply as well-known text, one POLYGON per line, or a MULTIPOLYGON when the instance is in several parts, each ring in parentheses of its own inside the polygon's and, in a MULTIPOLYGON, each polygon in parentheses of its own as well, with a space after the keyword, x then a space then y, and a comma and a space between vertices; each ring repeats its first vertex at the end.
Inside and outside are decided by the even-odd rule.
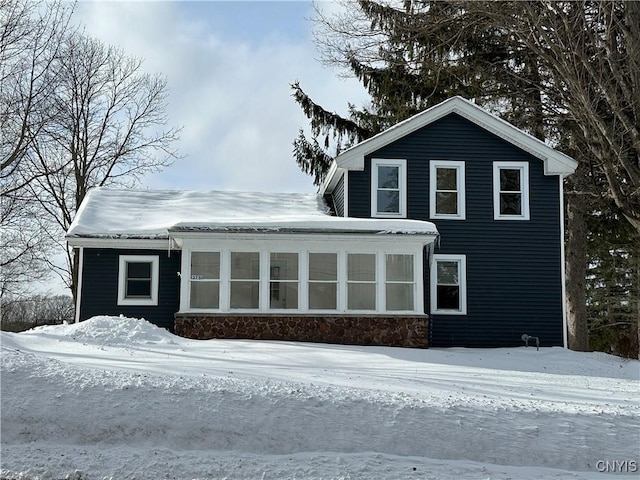
POLYGON ((604 479, 640 471, 640 362, 561 348, 2 333, 2 479, 604 479), (616 473, 618 472, 618 473, 616 473))

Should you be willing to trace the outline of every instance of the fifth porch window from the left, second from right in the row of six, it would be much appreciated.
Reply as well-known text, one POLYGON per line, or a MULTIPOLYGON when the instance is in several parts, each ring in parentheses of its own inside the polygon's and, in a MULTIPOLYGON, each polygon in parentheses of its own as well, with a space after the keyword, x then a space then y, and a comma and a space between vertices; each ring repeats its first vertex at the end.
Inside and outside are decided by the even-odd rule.
POLYGON ((376 309, 375 254, 347 254, 347 309, 376 309))

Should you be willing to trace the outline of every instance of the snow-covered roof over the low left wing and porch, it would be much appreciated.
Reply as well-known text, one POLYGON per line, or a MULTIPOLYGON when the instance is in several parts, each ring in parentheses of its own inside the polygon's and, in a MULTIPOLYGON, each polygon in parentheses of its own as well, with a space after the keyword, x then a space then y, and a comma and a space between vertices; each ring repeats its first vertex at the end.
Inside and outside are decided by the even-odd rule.
POLYGON ((431 222, 332 216, 317 194, 94 188, 67 239, 165 239, 194 231, 438 235, 431 222))

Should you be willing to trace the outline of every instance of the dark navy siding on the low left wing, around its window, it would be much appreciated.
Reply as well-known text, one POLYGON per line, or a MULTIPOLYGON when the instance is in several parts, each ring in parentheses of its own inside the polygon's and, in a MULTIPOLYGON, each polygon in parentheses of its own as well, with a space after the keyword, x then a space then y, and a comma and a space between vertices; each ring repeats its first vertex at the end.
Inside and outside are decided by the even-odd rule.
POLYGON ((85 248, 80 320, 96 315, 144 318, 173 331, 174 314, 180 306, 181 252, 167 250, 117 250, 85 248), (157 255, 159 258, 158 305, 118 305, 118 261, 120 255, 157 255))

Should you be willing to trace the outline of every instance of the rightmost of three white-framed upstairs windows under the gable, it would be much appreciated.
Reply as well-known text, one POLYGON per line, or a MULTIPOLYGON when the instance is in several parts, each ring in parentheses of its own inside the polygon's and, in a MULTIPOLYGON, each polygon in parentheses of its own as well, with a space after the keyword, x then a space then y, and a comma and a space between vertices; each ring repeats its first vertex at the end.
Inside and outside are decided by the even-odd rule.
POLYGON ((493 218, 529 220, 529 163, 493 162, 493 218))

